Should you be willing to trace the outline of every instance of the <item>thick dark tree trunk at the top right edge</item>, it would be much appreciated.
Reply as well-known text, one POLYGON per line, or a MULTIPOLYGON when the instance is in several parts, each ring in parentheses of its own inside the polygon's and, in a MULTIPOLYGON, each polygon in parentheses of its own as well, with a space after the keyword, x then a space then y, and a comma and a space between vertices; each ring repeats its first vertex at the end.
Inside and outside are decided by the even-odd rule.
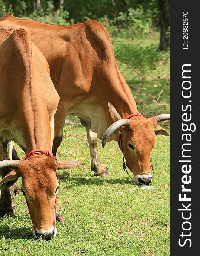
POLYGON ((170 36, 167 35, 170 26, 170 0, 159 0, 159 10, 160 44, 158 49, 166 51, 170 48, 170 36))

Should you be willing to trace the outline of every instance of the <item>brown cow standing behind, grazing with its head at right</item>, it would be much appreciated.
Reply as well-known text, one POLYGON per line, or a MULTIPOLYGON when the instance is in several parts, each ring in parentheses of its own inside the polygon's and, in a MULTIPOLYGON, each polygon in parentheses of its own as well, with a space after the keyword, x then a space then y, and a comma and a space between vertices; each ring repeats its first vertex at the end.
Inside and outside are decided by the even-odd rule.
POLYGON ((106 175, 107 169, 100 164, 97 155, 97 137, 103 138, 104 146, 106 141, 117 141, 122 128, 123 152, 134 181, 149 184, 152 178, 149 157, 156 135, 168 135, 157 122, 170 116, 147 119, 135 115, 138 109, 134 97, 117 67, 106 29, 95 20, 70 26, 12 15, 0 20, 5 26, 28 28, 33 42, 49 63, 51 79, 60 96, 54 122, 53 153, 61 143, 66 116, 78 116, 87 130, 91 170, 95 175, 106 175), (134 115, 130 117, 131 113, 134 115), (115 125, 106 132, 113 123, 115 125))

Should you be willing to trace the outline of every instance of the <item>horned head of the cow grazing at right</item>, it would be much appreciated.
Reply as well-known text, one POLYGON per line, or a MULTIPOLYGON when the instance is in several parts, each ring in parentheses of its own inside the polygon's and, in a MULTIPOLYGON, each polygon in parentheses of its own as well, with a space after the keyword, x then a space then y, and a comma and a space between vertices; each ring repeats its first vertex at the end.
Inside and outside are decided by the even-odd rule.
MULTIPOLYGON (((134 116, 134 119, 122 119, 111 103, 108 103, 113 124, 107 129, 102 138, 102 146, 106 145, 112 133, 121 129, 123 154, 126 164, 133 172, 136 185, 151 183, 150 153, 156 143, 156 135, 169 135, 157 123, 169 120, 170 115, 159 115, 151 118, 134 116)), ((121 142, 120 142, 121 144, 121 142)))

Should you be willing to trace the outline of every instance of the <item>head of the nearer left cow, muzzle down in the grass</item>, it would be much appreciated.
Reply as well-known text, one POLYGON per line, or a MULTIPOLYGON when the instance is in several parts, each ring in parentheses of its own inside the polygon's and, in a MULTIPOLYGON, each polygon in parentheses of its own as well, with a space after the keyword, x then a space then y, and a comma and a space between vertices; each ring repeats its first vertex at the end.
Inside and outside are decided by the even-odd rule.
POLYGON ((37 155, 27 160, 4 160, 0 168, 15 168, 0 182, 0 190, 13 185, 22 177, 21 190, 26 198, 29 213, 33 223, 34 238, 46 240, 54 238, 57 233, 56 202, 59 183, 56 171, 69 169, 79 164, 79 161, 59 161, 56 157, 37 155))

